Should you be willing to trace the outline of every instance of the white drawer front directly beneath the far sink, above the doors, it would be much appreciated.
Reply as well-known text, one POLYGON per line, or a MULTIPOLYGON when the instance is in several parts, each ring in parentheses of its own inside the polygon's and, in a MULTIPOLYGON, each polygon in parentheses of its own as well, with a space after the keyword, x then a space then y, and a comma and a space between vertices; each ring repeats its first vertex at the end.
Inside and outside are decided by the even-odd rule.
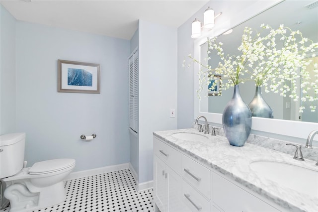
POLYGON ((154 137, 154 154, 175 172, 181 173, 181 153, 156 137, 154 137))

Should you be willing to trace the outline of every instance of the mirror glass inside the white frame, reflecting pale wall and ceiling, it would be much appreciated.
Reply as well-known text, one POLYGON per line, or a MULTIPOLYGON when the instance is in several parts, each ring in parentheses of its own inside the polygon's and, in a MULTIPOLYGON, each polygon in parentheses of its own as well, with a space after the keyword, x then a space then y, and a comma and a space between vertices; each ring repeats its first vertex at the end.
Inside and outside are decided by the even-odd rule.
MULTIPOLYGON (((241 43, 241 37, 245 26, 251 27, 253 31, 259 30, 262 23, 268 24, 273 28, 278 28, 280 24, 290 27, 292 30, 300 30, 304 37, 307 37, 314 42, 318 42, 318 7, 308 8, 306 5, 313 1, 307 0, 286 0, 274 7, 260 13, 257 16, 239 24, 233 28, 233 32, 227 35, 220 35, 217 38, 218 42, 223 43, 225 54, 237 55, 239 51, 237 48, 241 43), (279 14, 279 16, 277 15, 279 14)), ((204 61, 207 58, 207 43, 201 45, 201 58, 204 61)), ((318 55, 318 53, 317 53, 318 55)), ((219 63, 217 55, 209 55, 209 65, 213 68, 219 63)), ((318 62, 318 57, 315 58, 318 62)), ((204 64, 204 63, 203 63, 204 64)), ((313 63, 312 63, 313 64, 313 63)), ((313 70, 313 67, 308 67, 307 70, 313 70)), ((314 72, 312 71, 312 79, 314 79, 314 72)), ((208 87, 207 87, 208 88, 208 87)), ((222 91, 222 96, 209 96, 208 91, 201 92, 200 111, 222 113, 226 104, 233 96, 233 88, 222 91)), ((253 81, 240 84, 240 93, 246 104, 249 104, 255 93, 255 83, 253 81)), ((299 94, 301 91, 299 90, 299 94)), ((318 109, 311 112, 309 103, 300 101, 294 102, 289 97, 282 97, 279 94, 272 92, 262 92, 263 98, 267 104, 273 109, 275 119, 318 122, 318 109), (303 113, 299 113, 299 106, 304 104, 306 109, 303 113)), ((313 94, 312 94, 313 95, 313 94)), ((314 95, 313 95, 314 96, 314 95)), ((315 104, 318 108, 318 102, 315 104)))

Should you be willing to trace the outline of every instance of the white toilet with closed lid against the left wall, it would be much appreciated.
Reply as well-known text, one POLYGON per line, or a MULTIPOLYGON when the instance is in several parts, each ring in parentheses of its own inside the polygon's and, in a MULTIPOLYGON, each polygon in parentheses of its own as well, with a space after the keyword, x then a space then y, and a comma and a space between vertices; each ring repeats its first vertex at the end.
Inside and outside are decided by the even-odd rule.
POLYGON ((63 180, 75 167, 74 159, 55 159, 24 168, 25 133, 0 136, 0 179, 10 212, 27 212, 62 203, 63 180), (23 165, 24 164, 24 165, 23 165))

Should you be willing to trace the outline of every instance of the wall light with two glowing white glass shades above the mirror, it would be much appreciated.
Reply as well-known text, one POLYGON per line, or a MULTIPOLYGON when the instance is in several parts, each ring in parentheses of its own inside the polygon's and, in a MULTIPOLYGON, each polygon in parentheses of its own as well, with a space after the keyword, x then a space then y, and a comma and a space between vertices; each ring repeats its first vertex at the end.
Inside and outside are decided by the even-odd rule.
MULTIPOLYGON (((204 19, 204 25, 203 27, 207 30, 211 30, 214 27, 214 19, 217 18, 219 15, 221 15, 222 12, 214 15, 214 10, 208 6, 208 8, 203 13, 203 19, 204 19)), ((201 29, 203 28, 201 25, 201 22, 198 20, 198 18, 195 18, 192 22, 192 38, 198 38, 201 36, 201 29)))

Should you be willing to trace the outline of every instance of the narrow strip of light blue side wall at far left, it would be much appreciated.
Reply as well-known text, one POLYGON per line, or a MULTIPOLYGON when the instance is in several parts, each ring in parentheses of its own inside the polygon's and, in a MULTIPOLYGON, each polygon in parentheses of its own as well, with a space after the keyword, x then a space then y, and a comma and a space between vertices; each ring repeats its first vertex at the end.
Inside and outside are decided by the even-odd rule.
POLYGON ((15 18, 0 4, 0 134, 15 131, 15 18))

